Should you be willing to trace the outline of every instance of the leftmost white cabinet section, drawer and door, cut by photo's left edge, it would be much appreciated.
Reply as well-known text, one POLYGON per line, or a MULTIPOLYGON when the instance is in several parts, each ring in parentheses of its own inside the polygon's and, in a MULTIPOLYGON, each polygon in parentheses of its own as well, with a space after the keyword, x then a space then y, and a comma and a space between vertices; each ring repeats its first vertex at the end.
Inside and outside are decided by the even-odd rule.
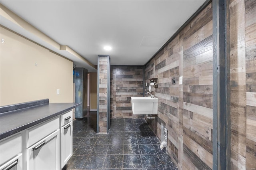
POLYGON ((22 135, 0 141, 0 170, 22 170, 22 135))

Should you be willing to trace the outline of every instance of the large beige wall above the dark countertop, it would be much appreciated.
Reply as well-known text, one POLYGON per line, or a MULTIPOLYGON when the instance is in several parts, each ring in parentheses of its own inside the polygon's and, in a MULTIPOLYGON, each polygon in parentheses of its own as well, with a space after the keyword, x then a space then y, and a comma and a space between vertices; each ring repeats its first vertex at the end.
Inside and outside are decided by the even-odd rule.
POLYGON ((72 61, 2 27, 0 38, 5 41, 0 44, 0 106, 45 98, 73 101, 72 61))

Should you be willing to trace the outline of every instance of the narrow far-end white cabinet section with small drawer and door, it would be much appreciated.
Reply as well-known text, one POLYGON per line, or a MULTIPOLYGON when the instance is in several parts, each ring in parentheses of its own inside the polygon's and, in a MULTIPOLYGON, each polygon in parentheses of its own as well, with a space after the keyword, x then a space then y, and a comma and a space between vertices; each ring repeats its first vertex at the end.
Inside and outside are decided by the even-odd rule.
POLYGON ((60 116, 60 125, 60 168, 63 168, 73 153, 72 111, 60 116))

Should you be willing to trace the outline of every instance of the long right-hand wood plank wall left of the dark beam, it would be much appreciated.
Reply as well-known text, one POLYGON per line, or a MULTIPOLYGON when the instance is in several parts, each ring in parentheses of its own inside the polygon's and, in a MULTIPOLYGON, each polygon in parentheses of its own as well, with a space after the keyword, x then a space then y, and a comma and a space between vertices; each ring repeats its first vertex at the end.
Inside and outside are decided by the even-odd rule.
POLYGON ((212 169, 212 55, 209 4, 145 67, 147 83, 158 78, 158 117, 147 121, 158 138, 161 123, 168 128, 167 152, 180 170, 212 169))

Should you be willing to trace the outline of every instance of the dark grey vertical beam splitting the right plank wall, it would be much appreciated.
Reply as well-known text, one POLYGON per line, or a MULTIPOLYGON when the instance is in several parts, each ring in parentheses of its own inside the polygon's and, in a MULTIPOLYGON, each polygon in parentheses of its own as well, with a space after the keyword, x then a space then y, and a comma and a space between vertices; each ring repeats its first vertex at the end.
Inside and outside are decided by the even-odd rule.
POLYGON ((230 169, 228 11, 224 0, 213 8, 213 170, 230 169))

